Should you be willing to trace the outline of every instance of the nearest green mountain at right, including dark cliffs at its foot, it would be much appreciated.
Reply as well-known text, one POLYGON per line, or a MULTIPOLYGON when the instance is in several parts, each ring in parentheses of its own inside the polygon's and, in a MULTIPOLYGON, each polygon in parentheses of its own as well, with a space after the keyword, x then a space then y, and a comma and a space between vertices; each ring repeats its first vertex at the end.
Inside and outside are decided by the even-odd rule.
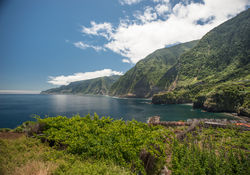
POLYGON ((209 111, 249 112, 249 19, 250 9, 214 28, 181 55, 158 82, 169 92, 155 95, 153 103, 194 101, 209 111))

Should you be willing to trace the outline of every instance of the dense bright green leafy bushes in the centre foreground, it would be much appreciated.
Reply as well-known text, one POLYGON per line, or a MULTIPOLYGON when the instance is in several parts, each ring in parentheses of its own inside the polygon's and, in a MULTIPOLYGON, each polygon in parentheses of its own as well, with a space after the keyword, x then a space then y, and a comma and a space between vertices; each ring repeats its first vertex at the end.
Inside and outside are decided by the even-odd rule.
POLYGON ((157 173, 166 159, 166 136, 160 126, 113 120, 98 115, 38 119, 44 126, 42 139, 82 159, 106 159, 132 172, 157 173), (150 167, 148 167, 148 165, 150 167))

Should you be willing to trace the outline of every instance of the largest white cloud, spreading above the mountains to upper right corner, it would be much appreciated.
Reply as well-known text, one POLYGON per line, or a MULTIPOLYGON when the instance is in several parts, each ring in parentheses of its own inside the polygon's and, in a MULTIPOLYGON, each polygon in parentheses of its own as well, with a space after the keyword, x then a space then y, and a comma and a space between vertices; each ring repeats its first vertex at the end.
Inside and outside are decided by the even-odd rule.
POLYGON ((105 37, 103 47, 135 64, 166 45, 200 39, 250 5, 249 0, 204 0, 203 3, 183 0, 174 6, 169 0, 153 1, 154 6, 136 12, 133 20, 121 20, 117 27, 91 22, 92 26, 84 27, 83 32, 105 37))

